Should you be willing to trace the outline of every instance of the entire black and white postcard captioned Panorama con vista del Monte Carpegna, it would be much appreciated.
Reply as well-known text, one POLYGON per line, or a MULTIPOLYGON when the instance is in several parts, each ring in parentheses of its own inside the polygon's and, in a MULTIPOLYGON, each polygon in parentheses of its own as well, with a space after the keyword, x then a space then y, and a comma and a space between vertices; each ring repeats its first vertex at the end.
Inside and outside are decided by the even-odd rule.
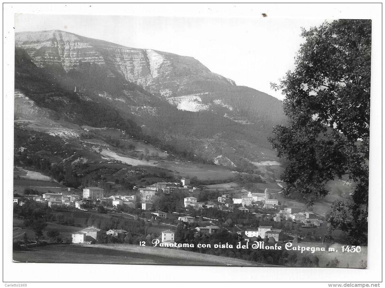
POLYGON ((367 268, 371 19, 17 13, 14 39, 14 262, 367 268))

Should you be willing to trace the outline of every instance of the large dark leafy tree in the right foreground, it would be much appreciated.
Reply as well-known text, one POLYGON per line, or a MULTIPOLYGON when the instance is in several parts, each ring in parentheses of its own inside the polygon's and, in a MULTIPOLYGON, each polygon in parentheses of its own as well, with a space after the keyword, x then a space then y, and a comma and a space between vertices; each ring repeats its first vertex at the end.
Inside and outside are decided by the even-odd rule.
POLYGON ((353 203, 336 201, 326 219, 352 244, 367 244, 371 21, 336 20, 303 30, 295 70, 275 88, 286 95, 287 126, 270 139, 288 159, 286 195, 311 206, 325 184, 348 176, 353 203))

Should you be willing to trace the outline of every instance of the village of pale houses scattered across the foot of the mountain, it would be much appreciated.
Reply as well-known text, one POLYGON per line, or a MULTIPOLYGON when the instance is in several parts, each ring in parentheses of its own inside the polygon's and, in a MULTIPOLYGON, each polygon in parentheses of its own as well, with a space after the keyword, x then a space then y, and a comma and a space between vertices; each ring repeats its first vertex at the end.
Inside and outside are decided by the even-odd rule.
MULTIPOLYGON (((221 194, 215 199, 207 199, 198 202, 198 198, 192 196, 201 193, 202 188, 191 186, 190 180, 180 179, 180 182, 157 182, 150 186, 136 187, 131 195, 112 195, 105 197, 105 191, 98 187, 83 189, 82 196, 67 188, 60 193, 15 194, 14 205, 23 206, 27 201, 34 201, 47 205, 51 209, 77 209, 89 211, 89 209, 103 211, 102 213, 124 213, 124 216, 132 216, 134 220, 143 220, 144 225, 161 224, 169 227, 157 233, 148 233, 137 238, 139 245, 174 244, 181 237, 181 229, 184 229, 190 238, 210 239, 218 231, 227 231, 236 235, 239 241, 253 242, 264 241, 266 243, 297 242, 304 233, 301 228, 318 228, 324 222, 319 215, 310 211, 303 211, 300 207, 284 207, 269 189, 264 191, 247 191, 242 196, 221 194), (157 206, 156 198, 164 196, 178 196, 182 208, 178 211, 161 211, 157 206), (186 196, 186 197, 183 197, 186 196), (182 198, 183 197, 183 198, 182 198), (138 215, 137 211, 141 211, 138 215), (213 217, 219 213, 223 217, 213 217), (141 217, 140 217, 141 216, 141 217), (143 217, 144 216, 144 217, 143 217), (224 220, 224 221, 223 221, 224 220), (179 229, 179 232, 177 230, 179 229)), ((114 238, 116 243, 124 243, 126 237, 131 234, 125 229, 108 227, 102 229, 97 226, 87 226, 72 233, 72 244, 97 244, 104 243, 105 237, 114 238)), ((187 239, 188 237, 184 237, 187 239)), ((234 238, 235 239, 235 238, 234 238)), ((188 243, 188 241, 185 241, 188 243)), ((163 246, 163 245, 159 245, 163 246)))

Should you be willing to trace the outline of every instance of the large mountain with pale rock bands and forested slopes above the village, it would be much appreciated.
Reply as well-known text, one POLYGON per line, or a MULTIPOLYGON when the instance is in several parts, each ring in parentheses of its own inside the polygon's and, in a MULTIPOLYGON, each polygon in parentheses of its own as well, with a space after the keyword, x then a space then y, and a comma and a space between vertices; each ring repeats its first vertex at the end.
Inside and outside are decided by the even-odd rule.
POLYGON ((239 171, 276 160, 267 137, 285 122, 281 101, 237 86, 192 57, 60 30, 16 33, 15 47, 15 116, 22 129, 81 150, 79 127, 113 128, 175 157, 239 171))

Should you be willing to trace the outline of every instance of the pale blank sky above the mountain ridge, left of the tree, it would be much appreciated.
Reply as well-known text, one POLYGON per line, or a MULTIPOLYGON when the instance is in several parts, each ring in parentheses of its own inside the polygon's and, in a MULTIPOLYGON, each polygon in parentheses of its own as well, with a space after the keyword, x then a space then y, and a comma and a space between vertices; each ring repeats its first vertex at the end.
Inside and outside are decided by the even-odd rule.
POLYGON ((324 19, 142 17, 16 14, 15 32, 63 30, 132 48, 154 49, 199 60, 237 85, 283 99, 278 83, 294 68, 304 39, 301 27, 324 19))

